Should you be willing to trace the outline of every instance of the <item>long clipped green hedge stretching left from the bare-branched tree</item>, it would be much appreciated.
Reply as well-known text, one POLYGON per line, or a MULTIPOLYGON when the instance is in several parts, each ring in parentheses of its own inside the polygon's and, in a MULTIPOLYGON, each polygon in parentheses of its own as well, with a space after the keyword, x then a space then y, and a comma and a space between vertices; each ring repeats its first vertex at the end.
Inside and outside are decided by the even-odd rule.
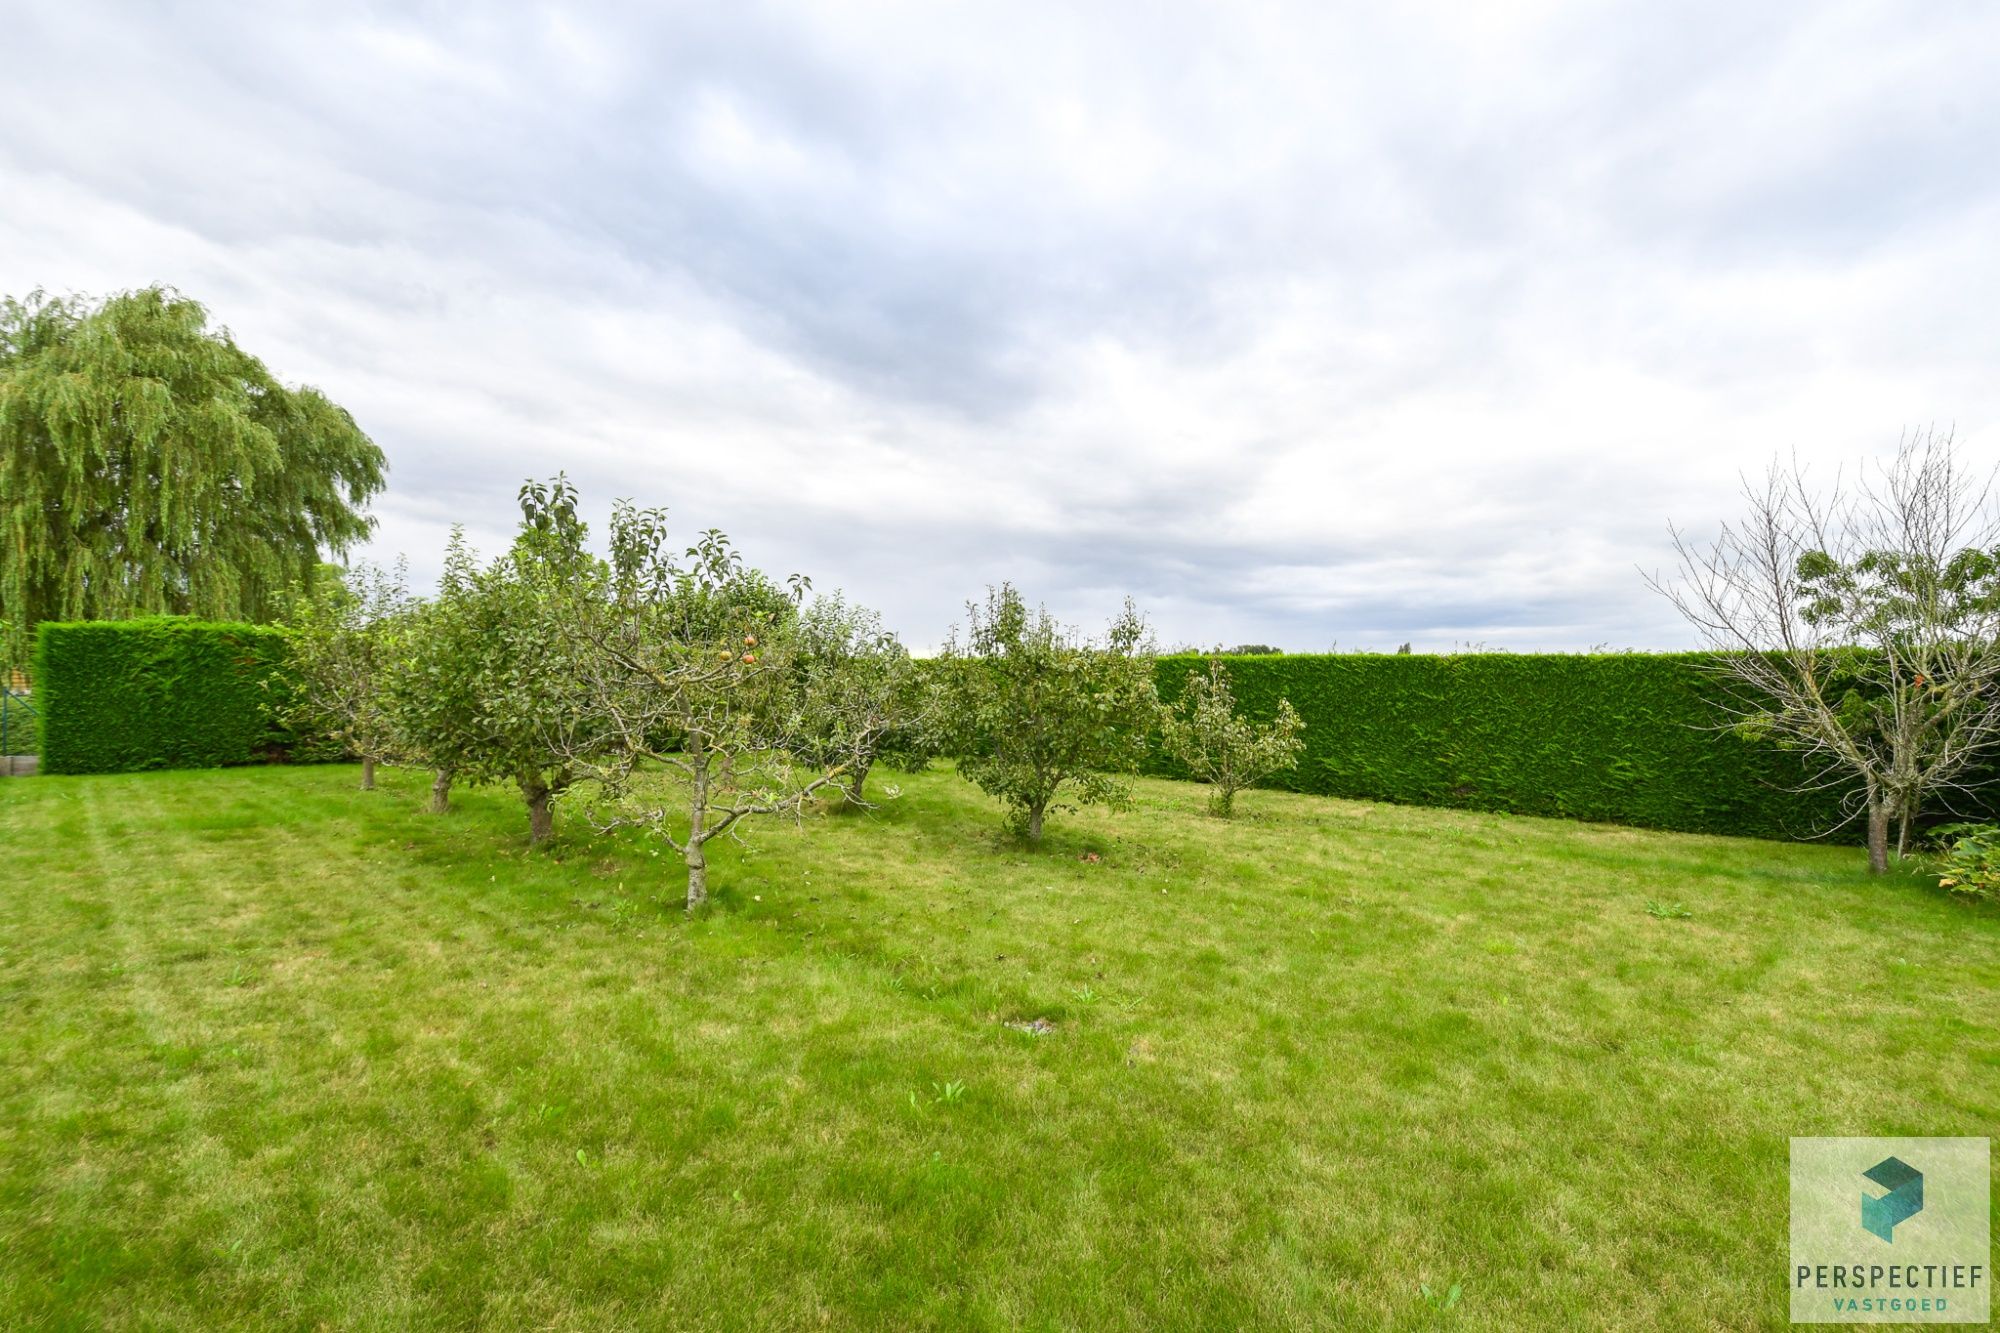
MULTIPOLYGON (((1160 658, 1162 699, 1206 660, 1160 658)), ((1716 731, 1700 654, 1222 660, 1248 715, 1284 697, 1304 717, 1306 753, 1274 781, 1294 791, 1766 839, 1842 821, 1840 793, 1796 791, 1798 757, 1716 731)))

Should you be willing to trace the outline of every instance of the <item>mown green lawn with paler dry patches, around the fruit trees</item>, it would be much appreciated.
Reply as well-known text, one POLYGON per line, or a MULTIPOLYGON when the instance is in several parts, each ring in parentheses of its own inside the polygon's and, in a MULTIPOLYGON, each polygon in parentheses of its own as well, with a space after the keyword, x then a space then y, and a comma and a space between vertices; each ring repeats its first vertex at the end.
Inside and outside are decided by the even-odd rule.
POLYGON ((414 773, 0 783, 0 1325, 1776 1327, 1790 1135, 2000 1123, 2000 913, 1852 849, 900 781, 692 923, 414 773))

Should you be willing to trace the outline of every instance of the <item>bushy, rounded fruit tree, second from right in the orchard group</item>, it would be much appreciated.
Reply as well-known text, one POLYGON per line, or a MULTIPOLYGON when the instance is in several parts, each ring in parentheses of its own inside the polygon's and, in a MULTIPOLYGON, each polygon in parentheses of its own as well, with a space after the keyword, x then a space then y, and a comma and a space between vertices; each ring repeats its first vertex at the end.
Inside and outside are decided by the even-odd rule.
POLYGON ((1010 825, 1042 837, 1048 811, 1118 805, 1120 773, 1146 757, 1160 715, 1152 644, 1128 600, 1102 642, 1028 610, 1014 584, 966 602, 966 636, 942 654, 940 705, 958 773, 1010 807, 1010 825), (1068 797, 1066 801, 1062 797, 1068 797))

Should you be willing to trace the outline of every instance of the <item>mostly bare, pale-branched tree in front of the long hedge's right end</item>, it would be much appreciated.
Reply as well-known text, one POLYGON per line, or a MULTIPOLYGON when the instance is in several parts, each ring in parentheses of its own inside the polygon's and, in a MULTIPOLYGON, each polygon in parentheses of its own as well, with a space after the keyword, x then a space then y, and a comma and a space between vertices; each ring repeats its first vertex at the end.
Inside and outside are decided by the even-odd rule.
MULTIPOLYGON (((1970 795, 2000 743, 2000 508, 1950 434, 1918 432, 1852 482, 1772 464, 1708 542, 1674 530, 1652 576, 1716 652, 1726 727, 1806 761, 1840 791, 1886 871, 1930 803, 1970 795)), ((1844 821, 1846 823, 1846 821, 1844 821)))

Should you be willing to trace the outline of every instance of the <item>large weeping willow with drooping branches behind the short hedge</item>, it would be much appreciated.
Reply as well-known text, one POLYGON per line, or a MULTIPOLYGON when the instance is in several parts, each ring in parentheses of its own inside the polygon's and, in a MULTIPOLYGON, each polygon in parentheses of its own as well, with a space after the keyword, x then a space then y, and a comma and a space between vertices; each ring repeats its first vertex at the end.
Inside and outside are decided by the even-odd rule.
POLYGON ((42 620, 268 620, 368 534, 382 450, 150 286, 0 300, 0 656, 42 620))

